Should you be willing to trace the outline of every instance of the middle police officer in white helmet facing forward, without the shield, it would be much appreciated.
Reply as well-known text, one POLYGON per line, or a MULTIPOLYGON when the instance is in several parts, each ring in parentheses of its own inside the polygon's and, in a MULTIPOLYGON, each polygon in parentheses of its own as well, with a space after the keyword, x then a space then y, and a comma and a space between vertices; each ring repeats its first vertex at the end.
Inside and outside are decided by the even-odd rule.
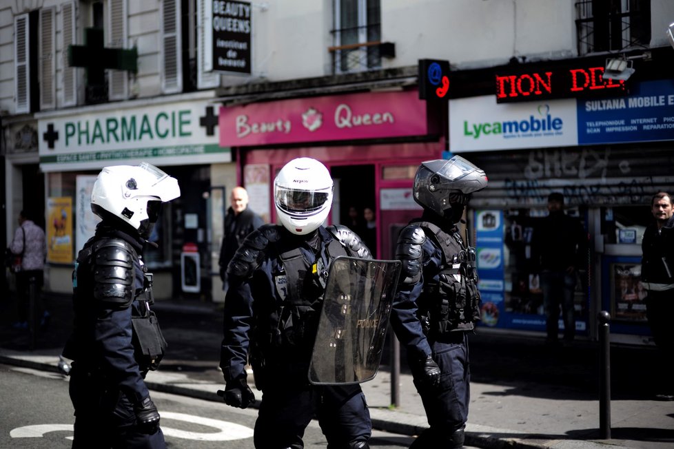
POLYGON ((350 229, 323 226, 332 194, 322 163, 291 160, 274 180, 281 225, 251 233, 227 268, 220 359, 225 390, 218 394, 232 407, 255 401, 247 383, 250 360, 263 393, 254 430, 258 449, 303 448, 315 417, 329 448, 369 448, 372 424, 360 385, 314 386, 308 379, 331 261, 371 258, 350 229))

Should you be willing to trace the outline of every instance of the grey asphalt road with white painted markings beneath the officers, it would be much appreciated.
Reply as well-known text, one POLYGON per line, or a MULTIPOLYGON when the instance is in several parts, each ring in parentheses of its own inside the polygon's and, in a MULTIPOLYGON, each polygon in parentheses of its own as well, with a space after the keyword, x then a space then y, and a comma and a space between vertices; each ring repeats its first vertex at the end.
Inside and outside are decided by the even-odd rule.
MULTIPOLYGON (((0 447, 70 448, 72 405, 68 379, 56 373, 0 365, 0 447)), ((252 449, 257 410, 238 410, 213 401, 153 392, 168 448, 252 449)), ((371 448, 407 448, 413 438, 375 431, 371 448)), ((315 421, 305 433, 305 448, 325 448, 315 421)))

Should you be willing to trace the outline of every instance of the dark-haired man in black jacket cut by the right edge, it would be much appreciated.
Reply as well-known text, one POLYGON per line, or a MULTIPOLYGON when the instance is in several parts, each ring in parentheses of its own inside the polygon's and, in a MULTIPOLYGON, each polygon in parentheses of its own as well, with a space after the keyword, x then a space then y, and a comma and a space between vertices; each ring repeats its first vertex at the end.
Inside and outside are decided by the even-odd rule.
POLYGON ((653 342, 660 353, 660 364, 650 370, 656 399, 674 401, 674 380, 670 366, 674 359, 674 217, 672 197, 664 191, 651 199, 655 220, 646 227, 642 240, 641 279, 646 296, 646 318, 653 342))

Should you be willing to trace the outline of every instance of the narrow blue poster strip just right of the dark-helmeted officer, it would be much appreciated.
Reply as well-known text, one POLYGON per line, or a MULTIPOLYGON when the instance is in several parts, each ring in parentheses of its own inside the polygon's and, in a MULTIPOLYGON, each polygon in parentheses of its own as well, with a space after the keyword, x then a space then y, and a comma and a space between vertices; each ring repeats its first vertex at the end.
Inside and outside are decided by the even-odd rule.
POLYGON ((478 289, 482 298, 481 325, 502 326, 503 296, 503 211, 475 212, 478 289))

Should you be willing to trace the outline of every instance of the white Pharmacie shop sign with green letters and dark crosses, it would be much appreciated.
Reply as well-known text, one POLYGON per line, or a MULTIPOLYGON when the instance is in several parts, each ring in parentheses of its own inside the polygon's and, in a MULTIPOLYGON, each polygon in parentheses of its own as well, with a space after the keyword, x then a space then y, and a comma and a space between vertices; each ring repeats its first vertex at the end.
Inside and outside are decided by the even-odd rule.
POLYGON ((147 160, 155 165, 231 162, 218 145, 217 109, 207 101, 142 105, 88 114, 39 116, 43 171, 98 169, 147 160))

